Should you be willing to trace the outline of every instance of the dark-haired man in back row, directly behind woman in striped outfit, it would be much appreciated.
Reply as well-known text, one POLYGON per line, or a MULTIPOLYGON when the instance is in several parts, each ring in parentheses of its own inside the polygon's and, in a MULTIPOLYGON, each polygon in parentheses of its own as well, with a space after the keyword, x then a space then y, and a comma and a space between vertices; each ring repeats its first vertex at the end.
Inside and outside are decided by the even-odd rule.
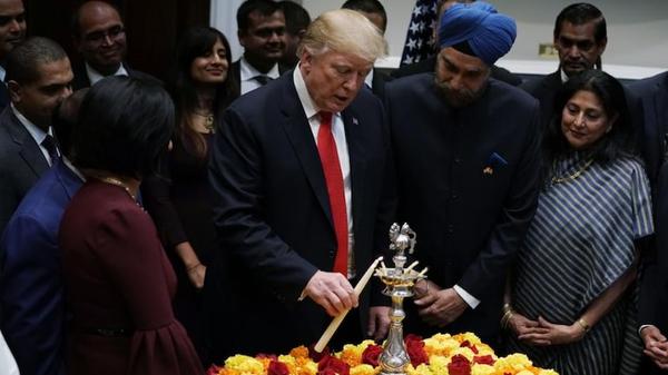
POLYGON ((557 16, 553 38, 559 52, 559 69, 521 86, 540 102, 541 124, 550 121, 557 91, 569 77, 601 69, 601 55, 608 43, 606 18, 590 3, 570 4, 557 16))

